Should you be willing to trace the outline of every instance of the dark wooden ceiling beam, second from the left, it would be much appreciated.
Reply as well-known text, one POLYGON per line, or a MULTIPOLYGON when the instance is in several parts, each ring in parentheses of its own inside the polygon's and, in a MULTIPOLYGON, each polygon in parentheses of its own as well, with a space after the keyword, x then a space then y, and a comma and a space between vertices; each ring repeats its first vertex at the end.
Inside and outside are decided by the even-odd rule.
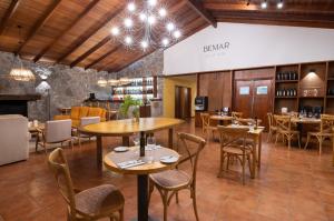
POLYGON ((31 28, 28 36, 24 38, 24 41, 19 46, 16 51, 16 54, 20 53, 23 47, 32 39, 32 37, 48 22, 52 17, 57 7, 60 4, 61 0, 55 0, 52 4, 47 9, 43 16, 37 21, 37 23, 31 28))

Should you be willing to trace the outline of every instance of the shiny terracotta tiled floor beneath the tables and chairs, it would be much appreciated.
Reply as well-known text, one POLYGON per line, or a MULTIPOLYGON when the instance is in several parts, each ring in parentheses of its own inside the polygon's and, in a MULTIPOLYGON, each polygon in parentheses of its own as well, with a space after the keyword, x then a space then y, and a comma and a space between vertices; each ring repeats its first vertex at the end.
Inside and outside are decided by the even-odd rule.
MULTIPOLYGON (((177 131, 195 132, 193 124, 185 124, 177 131)), ((200 130, 196 130, 200 135, 200 130)), ((159 143, 167 142, 167 132, 156 134, 159 143)), ((107 138, 105 152, 121 142, 107 138)), ((331 148, 317 155, 312 150, 274 147, 263 142, 262 168, 256 179, 247 173, 246 185, 238 172, 228 172, 217 178, 218 143, 210 142, 199 159, 197 177, 197 202, 202 221, 223 220, 334 220, 334 167, 331 148)), ((136 217, 136 178, 118 175, 96 169, 95 143, 79 149, 67 149, 67 157, 75 184, 86 189, 100 183, 112 183, 120 188, 126 198, 126 220, 136 217)), ((232 169, 239 170, 237 164, 232 169)), ((154 193, 150 214, 161 220, 163 205, 154 193)), ((6 221, 59 221, 66 220, 66 204, 57 191, 50 174, 46 155, 31 154, 26 162, 0 167, 0 214, 6 221)), ((180 193, 180 203, 171 202, 169 220, 195 220, 187 191, 180 193)))

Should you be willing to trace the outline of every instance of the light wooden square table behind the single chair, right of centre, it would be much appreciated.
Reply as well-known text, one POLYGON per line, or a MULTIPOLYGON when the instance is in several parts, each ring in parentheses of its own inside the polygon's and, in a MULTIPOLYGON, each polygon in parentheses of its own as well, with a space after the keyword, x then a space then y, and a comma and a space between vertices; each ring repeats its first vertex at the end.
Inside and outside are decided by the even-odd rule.
MULTIPOLYGON (((227 125, 228 128, 249 128, 248 125, 227 125)), ((262 152, 262 133, 264 131, 265 127, 257 127, 253 131, 249 130, 249 135, 253 138, 255 145, 253 145, 253 161, 252 161, 252 171, 250 171, 250 178, 255 178, 256 173, 256 161, 257 167, 261 168, 261 152, 262 152)))

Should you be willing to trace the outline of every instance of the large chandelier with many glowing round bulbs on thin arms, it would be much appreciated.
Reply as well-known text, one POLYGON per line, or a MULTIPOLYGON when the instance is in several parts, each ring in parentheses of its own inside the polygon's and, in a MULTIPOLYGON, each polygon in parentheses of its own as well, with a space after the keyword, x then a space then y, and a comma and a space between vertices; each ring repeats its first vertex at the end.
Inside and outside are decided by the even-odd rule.
POLYGON ((166 48, 181 37, 166 7, 158 0, 130 0, 110 33, 126 48, 141 48, 144 51, 166 48))

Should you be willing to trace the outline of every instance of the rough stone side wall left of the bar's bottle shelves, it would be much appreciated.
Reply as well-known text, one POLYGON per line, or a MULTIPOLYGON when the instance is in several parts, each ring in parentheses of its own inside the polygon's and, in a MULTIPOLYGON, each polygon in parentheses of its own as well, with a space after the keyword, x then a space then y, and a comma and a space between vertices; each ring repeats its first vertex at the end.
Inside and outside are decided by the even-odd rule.
POLYGON ((37 88, 39 92, 45 92, 41 100, 29 102, 29 119, 45 121, 49 119, 49 114, 51 118, 59 114, 58 108, 80 106, 88 98, 89 92, 95 92, 96 97, 101 99, 110 97, 110 88, 97 86, 97 80, 100 77, 106 77, 107 72, 84 70, 82 68, 70 69, 62 64, 40 64, 26 60, 22 62, 36 74, 35 82, 19 82, 8 79, 7 77, 13 67, 13 54, 0 52, 0 93, 36 93, 37 88), (50 86, 49 93, 43 90, 45 86, 48 84, 46 82, 41 84, 43 76, 48 76, 45 81, 50 86))

